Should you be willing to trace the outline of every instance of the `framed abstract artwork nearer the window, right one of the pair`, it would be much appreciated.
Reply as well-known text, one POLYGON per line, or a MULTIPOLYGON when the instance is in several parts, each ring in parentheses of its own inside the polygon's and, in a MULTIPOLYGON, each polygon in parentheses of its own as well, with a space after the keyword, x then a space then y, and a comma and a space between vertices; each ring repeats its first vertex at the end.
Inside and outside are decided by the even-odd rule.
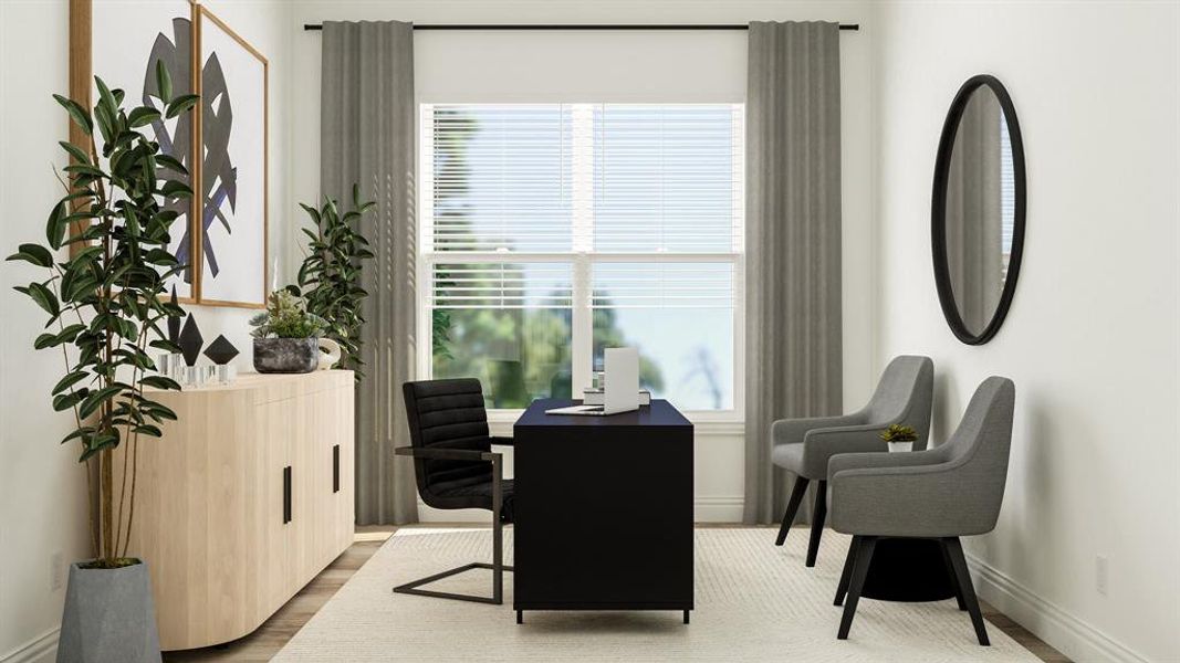
POLYGON ((267 302, 268 63, 209 9, 195 7, 201 94, 196 177, 197 301, 267 302))

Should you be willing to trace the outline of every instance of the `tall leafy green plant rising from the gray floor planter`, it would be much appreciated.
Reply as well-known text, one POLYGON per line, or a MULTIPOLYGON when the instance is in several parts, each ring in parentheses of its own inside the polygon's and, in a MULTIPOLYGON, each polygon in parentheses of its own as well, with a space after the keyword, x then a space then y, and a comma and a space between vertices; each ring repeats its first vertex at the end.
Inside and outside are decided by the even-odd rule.
POLYGON ((165 340, 162 327, 183 314, 164 298, 164 290, 165 281, 184 270, 168 250, 178 212, 163 205, 166 199, 189 198, 192 191, 172 179, 186 173, 184 165, 160 153, 159 144, 140 127, 188 112, 197 97, 172 98, 162 64, 156 76, 162 110, 124 109, 124 92, 110 90, 97 77, 93 111, 54 96, 90 136, 90 145, 61 143, 72 157, 63 169, 72 190, 63 180, 67 192, 50 211, 46 243, 21 244, 8 257, 48 271, 45 280, 17 290, 48 315, 45 327, 52 330, 38 336, 33 347, 64 357, 65 375, 53 387, 53 409, 71 411, 76 427, 61 442, 80 445, 79 461, 98 465, 93 473, 87 467, 86 475, 97 475, 98 485, 90 491, 91 536, 93 565, 100 567, 135 563, 126 553, 135 523, 139 438, 160 436, 159 425, 176 419, 145 388, 179 388, 149 374, 155 365, 148 348, 179 352, 165 340), (103 138, 101 152, 96 130, 103 138), (72 255, 58 261, 55 252, 64 247, 71 247, 72 255), (114 449, 123 444, 130 446, 116 486, 114 449))

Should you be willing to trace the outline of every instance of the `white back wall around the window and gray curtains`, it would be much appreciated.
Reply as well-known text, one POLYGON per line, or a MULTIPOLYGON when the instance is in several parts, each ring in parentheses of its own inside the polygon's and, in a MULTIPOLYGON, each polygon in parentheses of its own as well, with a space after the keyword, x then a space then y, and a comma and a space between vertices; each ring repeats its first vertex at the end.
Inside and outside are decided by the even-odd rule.
MULTIPOLYGON (((297 0, 291 24, 293 133, 290 205, 319 195, 321 33, 323 20, 415 22, 723 22, 832 20, 860 22, 841 48, 844 129, 845 402, 859 406, 876 380, 872 366, 871 53, 864 1, 736 0, 297 0)), ((725 101, 746 99, 745 32, 417 32, 418 101, 725 101)), ((510 434, 511 426, 493 426, 510 434)), ((740 520, 742 428, 697 424, 696 517, 740 520)), ((422 518, 454 520, 454 512, 422 518)), ((486 518, 472 513, 473 518, 486 518)))

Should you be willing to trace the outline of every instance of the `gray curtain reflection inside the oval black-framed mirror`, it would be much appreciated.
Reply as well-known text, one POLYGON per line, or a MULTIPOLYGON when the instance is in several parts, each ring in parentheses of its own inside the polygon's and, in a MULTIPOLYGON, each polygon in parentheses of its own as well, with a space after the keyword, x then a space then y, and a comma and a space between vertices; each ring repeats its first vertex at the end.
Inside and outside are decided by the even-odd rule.
POLYGON ((978 334, 991 322, 1004 288, 1001 248, 999 123, 989 87, 968 99, 946 177, 946 268, 959 317, 978 334))

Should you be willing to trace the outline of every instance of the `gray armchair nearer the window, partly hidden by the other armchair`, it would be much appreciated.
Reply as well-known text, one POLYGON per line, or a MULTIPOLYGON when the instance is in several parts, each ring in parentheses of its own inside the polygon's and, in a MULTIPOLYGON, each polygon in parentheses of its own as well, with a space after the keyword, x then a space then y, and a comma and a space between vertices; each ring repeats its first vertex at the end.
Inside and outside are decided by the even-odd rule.
POLYGON ((771 461, 799 475, 775 545, 782 545, 787 539, 807 484, 819 481, 807 545, 807 566, 814 566, 827 514, 828 459, 838 453, 887 451, 887 445, 878 435, 890 424, 913 427, 918 433, 913 448, 926 448, 933 390, 935 362, 925 356, 903 355, 885 367, 873 398, 860 411, 844 416, 775 421, 771 427, 774 442, 771 461))

